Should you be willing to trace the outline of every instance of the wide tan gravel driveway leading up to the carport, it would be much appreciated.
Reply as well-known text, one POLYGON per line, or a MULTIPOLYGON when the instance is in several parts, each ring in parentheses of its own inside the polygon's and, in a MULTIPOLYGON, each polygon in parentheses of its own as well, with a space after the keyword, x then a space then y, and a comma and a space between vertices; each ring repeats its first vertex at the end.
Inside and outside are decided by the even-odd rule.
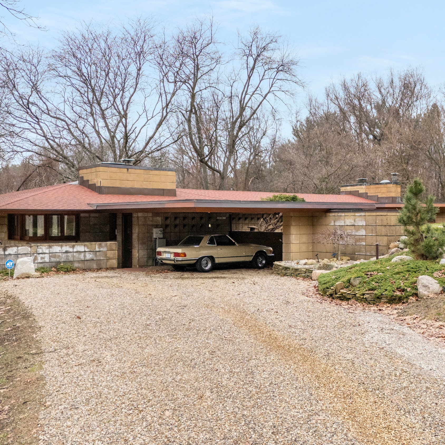
POLYGON ((310 286, 242 269, 1 283, 59 350, 41 443, 444 444, 445 350, 310 286))

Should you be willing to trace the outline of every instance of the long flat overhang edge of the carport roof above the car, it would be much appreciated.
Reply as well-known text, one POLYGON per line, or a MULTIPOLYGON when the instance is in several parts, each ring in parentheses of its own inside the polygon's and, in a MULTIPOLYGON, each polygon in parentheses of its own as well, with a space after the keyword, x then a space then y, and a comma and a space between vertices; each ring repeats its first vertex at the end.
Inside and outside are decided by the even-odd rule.
POLYGON ((161 211, 195 211, 195 212, 240 212, 274 213, 286 210, 374 210, 375 202, 280 202, 280 201, 234 201, 228 199, 178 199, 165 201, 140 202, 104 202, 90 203, 95 210, 161 210, 161 211))

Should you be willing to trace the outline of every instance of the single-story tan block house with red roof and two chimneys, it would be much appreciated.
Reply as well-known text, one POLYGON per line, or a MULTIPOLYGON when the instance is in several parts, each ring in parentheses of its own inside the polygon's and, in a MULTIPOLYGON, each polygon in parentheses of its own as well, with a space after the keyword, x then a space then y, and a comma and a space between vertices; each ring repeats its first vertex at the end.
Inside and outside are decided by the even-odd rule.
MULTIPOLYGON (((354 245, 342 247, 352 259, 371 258, 376 243, 386 253, 403 235, 396 223, 402 206, 396 174, 380 183, 359 179, 340 194, 299 193, 304 202, 261 200, 272 194, 178 189, 171 169, 114 162, 81 167, 78 182, 0 195, 0 268, 30 254, 47 267, 150 266, 163 243, 210 232, 236 231, 243 239, 240 231, 276 212, 283 214, 284 260, 330 258, 334 247, 313 237, 333 226, 353 236, 354 245)), ((439 206, 442 211, 445 204, 439 206)))

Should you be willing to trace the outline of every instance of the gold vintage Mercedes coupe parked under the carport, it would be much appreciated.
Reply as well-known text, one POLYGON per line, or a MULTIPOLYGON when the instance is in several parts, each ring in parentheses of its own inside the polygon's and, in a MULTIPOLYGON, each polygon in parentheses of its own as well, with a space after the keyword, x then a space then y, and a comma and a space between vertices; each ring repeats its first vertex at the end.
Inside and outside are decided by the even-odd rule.
POLYGON ((210 272, 215 263, 251 262, 253 267, 266 267, 271 247, 235 243, 228 235, 189 235, 177 246, 158 247, 159 263, 171 264, 177 271, 195 266, 200 272, 210 272))

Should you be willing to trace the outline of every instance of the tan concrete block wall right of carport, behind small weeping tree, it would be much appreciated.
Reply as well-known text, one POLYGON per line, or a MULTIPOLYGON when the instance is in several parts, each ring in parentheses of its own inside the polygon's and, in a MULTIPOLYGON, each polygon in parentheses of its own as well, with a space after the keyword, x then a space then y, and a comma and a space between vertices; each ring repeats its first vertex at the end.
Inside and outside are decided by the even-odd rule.
POLYGON ((313 236, 334 226, 351 232, 354 245, 341 246, 340 255, 351 259, 369 259, 388 253, 388 246, 403 235, 397 224, 396 211, 384 212, 328 212, 311 216, 283 216, 283 260, 331 258, 336 250, 332 244, 314 243, 313 236))

